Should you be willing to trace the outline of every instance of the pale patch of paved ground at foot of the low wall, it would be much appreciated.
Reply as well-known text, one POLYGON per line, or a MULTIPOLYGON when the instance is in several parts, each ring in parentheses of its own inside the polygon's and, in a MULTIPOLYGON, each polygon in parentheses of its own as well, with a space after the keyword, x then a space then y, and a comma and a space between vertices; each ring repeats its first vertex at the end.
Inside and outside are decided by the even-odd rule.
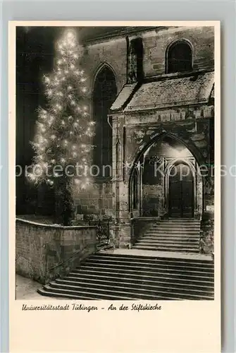
POLYGON ((29 278, 15 275, 15 297, 16 299, 33 299, 33 300, 46 300, 51 299, 50 297, 43 297, 37 293, 37 289, 41 288, 42 285, 38 282, 32 281, 29 278))

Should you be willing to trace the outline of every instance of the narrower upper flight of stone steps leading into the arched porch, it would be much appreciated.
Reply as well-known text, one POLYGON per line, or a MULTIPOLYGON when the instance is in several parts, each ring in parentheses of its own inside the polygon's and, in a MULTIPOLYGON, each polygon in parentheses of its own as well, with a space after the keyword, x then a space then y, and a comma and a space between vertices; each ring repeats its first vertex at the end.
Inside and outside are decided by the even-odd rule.
POLYGON ((199 253, 200 221, 190 218, 159 220, 137 240, 134 249, 199 253))

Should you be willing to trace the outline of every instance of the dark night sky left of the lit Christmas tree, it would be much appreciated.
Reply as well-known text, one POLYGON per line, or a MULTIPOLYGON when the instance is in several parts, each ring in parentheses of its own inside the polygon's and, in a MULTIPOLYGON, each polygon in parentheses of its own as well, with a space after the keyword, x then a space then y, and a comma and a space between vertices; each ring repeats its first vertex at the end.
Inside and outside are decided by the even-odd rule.
MULTIPOLYGON (((32 163, 37 107, 45 104, 42 87, 43 73, 53 68, 55 28, 33 28, 16 31, 16 164, 21 167, 32 163)), ((24 175, 16 178, 17 213, 29 213, 25 209, 37 199, 37 189, 30 186, 24 175)))

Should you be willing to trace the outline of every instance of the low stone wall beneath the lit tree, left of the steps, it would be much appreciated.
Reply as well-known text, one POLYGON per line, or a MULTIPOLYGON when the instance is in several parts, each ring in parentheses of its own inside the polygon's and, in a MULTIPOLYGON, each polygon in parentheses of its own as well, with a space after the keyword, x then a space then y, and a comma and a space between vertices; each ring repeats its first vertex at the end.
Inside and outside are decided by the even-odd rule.
POLYGON ((66 275, 96 251, 95 226, 61 227, 17 219, 15 271, 41 283, 66 275))

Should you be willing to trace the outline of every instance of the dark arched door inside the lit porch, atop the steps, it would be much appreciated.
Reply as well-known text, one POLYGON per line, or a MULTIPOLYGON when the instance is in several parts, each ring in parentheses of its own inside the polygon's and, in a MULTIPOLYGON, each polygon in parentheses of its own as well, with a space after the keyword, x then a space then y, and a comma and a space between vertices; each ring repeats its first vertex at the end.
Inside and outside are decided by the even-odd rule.
POLYGON ((169 217, 194 217, 194 177, 189 165, 175 162, 169 175, 169 217))

